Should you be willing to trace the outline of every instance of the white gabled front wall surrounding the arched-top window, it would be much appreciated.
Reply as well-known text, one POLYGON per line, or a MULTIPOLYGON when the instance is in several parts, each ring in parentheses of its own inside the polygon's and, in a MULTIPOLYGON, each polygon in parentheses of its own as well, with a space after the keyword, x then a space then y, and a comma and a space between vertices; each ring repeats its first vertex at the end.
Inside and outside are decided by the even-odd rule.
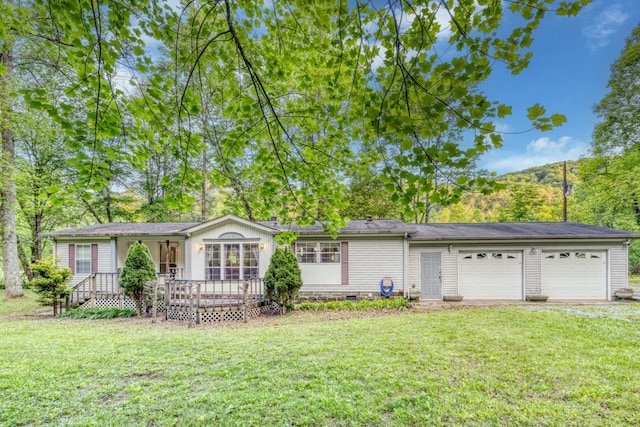
POLYGON ((212 227, 205 228, 194 232, 187 240, 189 245, 189 252, 191 253, 191 260, 189 268, 187 269, 193 280, 204 280, 204 268, 205 268, 205 250, 200 249, 207 243, 258 243, 264 244, 264 249, 260 250, 260 277, 263 278, 269 267, 271 261, 271 255, 275 251, 276 243, 271 233, 262 230, 259 227, 251 227, 242 223, 234 221, 226 221, 222 224, 217 224, 212 227), (242 239, 228 239, 224 241, 207 241, 207 239, 219 239, 220 236, 226 233, 238 233, 244 236, 245 239, 250 239, 243 242, 242 239))

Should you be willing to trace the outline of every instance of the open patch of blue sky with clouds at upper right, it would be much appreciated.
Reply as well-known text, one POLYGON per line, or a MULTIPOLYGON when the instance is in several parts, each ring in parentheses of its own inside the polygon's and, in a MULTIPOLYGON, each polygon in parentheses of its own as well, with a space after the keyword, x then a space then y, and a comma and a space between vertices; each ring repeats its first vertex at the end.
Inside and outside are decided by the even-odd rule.
POLYGON ((514 114, 498 122, 503 131, 530 129, 526 108, 536 102, 564 114, 567 123, 550 132, 505 134, 503 147, 479 167, 503 174, 588 155, 598 121, 593 106, 606 94, 610 66, 639 22, 640 0, 594 0, 577 17, 548 15, 534 33, 529 67, 513 76, 497 65, 482 90, 513 106, 514 114))

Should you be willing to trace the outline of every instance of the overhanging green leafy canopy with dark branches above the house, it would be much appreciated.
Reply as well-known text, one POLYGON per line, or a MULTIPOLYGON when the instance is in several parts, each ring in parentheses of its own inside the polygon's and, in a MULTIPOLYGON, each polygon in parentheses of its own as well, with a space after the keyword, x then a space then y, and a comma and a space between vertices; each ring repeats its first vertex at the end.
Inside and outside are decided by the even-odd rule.
MULTIPOLYGON (((114 189, 135 179, 145 218, 199 205, 205 219, 226 199, 250 219, 332 231, 349 177, 371 168, 392 201, 426 220, 434 205, 493 188, 473 164, 500 147, 495 120, 511 107, 479 83, 495 66, 523 70, 541 20, 588 2, 2 2, 3 159, 20 99, 64 133, 72 188, 98 222, 133 215, 117 210, 126 195, 114 189)), ((541 130, 565 120, 538 103, 528 118, 541 130)), ((9 163, 5 257, 16 245, 9 163)))

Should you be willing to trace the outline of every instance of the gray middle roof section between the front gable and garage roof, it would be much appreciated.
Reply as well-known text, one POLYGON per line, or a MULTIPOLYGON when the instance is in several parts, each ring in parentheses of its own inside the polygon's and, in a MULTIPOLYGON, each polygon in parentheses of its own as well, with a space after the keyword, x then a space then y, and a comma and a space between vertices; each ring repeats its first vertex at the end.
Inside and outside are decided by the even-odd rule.
MULTIPOLYGON (((258 223, 281 231, 295 231, 300 235, 325 234, 320 222, 304 227, 296 223, 283 224, 278 221, 258 221, 258 223)), ((405 224, 397 219, 351 220, 347 222, 345 227, 338 230, 339 234, 404 234, 415 232, 416 227, 414 225, 405 224)))

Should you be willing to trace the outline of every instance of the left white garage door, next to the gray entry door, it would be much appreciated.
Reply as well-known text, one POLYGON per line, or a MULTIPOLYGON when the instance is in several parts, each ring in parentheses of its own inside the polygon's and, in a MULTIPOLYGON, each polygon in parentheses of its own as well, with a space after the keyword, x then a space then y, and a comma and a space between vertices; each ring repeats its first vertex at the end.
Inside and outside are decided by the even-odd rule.
POLYGON ((465 299, 522 299, 522 252, 460 252, 458 265, 465 299))

